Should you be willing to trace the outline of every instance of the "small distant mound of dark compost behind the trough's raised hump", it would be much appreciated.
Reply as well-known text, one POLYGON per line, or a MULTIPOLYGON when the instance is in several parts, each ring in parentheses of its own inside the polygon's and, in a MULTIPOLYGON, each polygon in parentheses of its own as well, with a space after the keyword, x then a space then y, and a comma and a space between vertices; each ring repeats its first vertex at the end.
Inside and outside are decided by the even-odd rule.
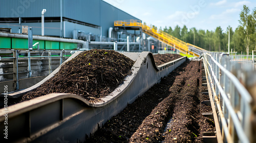
POLYGON ((156 65, 161 65, 169 61, 173 61, 178 58, 181 58, 182 56, 178 54, 156 54, 156 55, 153 55, 153 57, 155 59, 156 65))

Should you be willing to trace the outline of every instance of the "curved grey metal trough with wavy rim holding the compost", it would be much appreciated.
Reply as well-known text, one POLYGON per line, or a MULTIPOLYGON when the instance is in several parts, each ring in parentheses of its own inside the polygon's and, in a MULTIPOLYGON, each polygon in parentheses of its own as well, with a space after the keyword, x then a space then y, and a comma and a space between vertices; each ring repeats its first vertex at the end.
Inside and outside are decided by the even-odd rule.
MULTIPOLYGON (((79 53, 75 53, 68 60, 79 53)), ((110 96, 103 98, 102 102, 92 104, 74 94, 52 93, 12 105, 8 110, 0 109, 0 128, 5 129, 5 126, 8 126, 8 142, 84 141, 86 135, 94 133, 99 126, 118 114, 127 104, 133 103, 146 90, 186 60, 186 57, 181 57, 156 66, 150 52, 122 54, 136 60, 132 67, 132 75, 126 77, 124 83, 110 96), (4 124, 6 113, 8 113, 8 125, 4 124)), ((22 96, 38 87, 53 77, 58 70, 59 67, 38 84, 12 93, 9 98, 22 96)), ((3 142, 5 131, 1 130, 0 133, 1 142, 3 142)))

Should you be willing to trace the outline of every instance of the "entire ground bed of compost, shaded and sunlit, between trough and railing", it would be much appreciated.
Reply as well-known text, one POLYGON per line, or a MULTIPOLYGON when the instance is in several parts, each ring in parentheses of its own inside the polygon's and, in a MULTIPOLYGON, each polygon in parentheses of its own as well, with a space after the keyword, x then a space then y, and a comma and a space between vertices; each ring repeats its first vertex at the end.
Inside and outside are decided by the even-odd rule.
POLYGON ((186 61, 113 116, 86 142, 203 142, 203 132, 214 132, 211 112, 201 104, 201 61, 186 61))

